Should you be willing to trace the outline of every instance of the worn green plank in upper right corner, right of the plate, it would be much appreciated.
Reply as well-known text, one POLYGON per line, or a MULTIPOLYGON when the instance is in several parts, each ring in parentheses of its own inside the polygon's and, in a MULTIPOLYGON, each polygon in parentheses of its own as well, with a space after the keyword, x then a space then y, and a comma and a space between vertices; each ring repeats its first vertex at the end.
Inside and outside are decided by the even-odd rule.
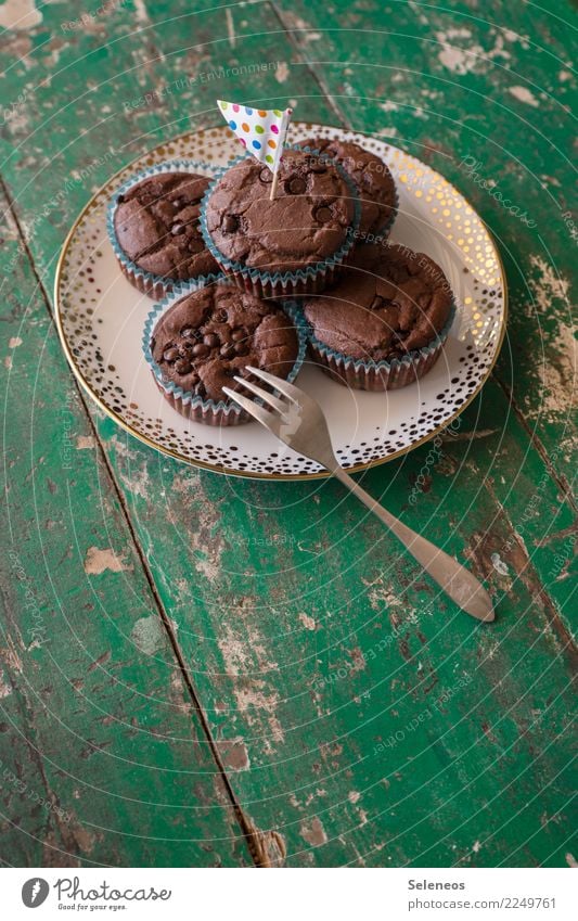
MULTIPOLYGON (((431 163, 496 235, 511 294, 498 373, 512 408, 568 487, 576 473, 576 338, 570 282, 578 242, 571 168, 568 2, 274 2, 336 118, 431 163), (568 24, 568 25, 567 25, 568 24), (570 398, 568 398, 570 397, 570 398)), ((576 302, 574 300, 574 304, 576 302)))

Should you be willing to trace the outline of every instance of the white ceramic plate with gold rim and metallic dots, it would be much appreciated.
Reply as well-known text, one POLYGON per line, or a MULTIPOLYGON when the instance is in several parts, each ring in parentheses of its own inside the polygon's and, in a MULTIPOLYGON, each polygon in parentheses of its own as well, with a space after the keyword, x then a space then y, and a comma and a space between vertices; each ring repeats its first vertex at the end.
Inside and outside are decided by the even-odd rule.
MULTIPOLYGON (((458 311, 441 357, 421 381, 386 394, 349 391, 306 364, 297 385, 316 396, 343 466, 360 470, 414 448, 447 426, 489 375, 505 330, 505 279, 484 222, 438 172, 377 138, 295 123, 291 142, 311 137, 356 141, 381 156, 399 191, 391 240, 427 253, 446 272, 458 311)), ((183 419, 157 389, 141 351, 153 302, 117 267, 106 236, 106 205, 132 172, 174 157, 207 164, 207 175, 239 154, 223 126, 159 144, 114 176, 89 202, 63 248, 55 281, 59 332, 81 384, 136 437, 187 463, 272 478, 323 476, 313 461, 258 423, 215 428, 183 419)))

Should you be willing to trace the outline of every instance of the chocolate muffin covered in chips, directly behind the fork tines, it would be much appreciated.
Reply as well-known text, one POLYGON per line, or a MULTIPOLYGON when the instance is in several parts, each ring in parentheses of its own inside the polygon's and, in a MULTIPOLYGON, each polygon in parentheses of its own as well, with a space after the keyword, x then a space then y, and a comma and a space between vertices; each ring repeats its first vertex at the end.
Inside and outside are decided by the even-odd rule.
POLYGON ((248 421, 231 404, 223 411, 223 386, 240 389, 235 374, 247 364, 280 378, 296 375, 305 354, 305 332, 274 302, 265 302, 228 282, 175 295, 157 308, 145 356, 160 389, 183 415, 211 424, 248 421), (234 411, 231 411, 234 410, 234 411))

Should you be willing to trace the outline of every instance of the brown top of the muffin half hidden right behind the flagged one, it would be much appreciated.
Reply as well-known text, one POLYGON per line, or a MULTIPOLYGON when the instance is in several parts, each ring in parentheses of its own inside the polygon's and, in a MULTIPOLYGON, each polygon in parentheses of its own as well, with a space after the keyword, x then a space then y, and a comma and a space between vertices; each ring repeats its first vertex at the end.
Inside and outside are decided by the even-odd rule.
POLYGON ((352 141, 311 138, 303 145, 339 163, 356 183, 361 200, 361 238, 371 240, 391 228, 397 214, 397 191, 394 177, 383 159, 352 141))

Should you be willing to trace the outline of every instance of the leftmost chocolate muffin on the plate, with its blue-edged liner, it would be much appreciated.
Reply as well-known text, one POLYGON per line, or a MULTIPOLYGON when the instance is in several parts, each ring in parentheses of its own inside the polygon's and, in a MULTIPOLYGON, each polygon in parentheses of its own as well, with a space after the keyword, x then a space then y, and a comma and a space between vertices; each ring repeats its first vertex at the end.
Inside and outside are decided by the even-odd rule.
POLYGON ((172 282, 219 271, 198 225, 209 182, 195 172, 159 171, 116 195, 115 252, 124 273, 140 291, 164 297, 172 282))

